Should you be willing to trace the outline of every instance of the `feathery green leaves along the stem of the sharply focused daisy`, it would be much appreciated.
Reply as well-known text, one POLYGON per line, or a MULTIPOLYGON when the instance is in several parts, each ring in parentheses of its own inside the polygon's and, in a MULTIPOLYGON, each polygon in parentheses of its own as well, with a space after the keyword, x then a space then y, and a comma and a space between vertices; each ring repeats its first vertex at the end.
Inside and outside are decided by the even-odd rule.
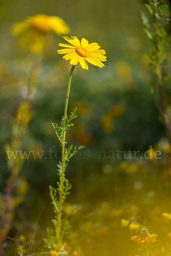
MULTIPOLYGON (((69 118, 68 116, 66 116, 66 119, 64 118, 64 116, 62 117, 61 126, 52 123, 55 129, 55 134, 58 137, 58 140, 60 141, 61 145, 66 144, 65 133, 67 130, 70 129, 71 126, 73 126, 73 124, 70 122, 77 117, 76 110, 77 108, 75 108, 73 112, 71 112, 69 118)), ((73 145, 70 145, 68 148, 65 148, 64 156, 58 164, 58 187, 54 188, 52 186, 49 186, 49 194, 52 199, 53 211, 55 214, 55 217, 52 219, 54 229, 48 228, 47 239, 43 239, 43 241, 46 244, 46 247, 48 247, 49 249, 53 249, 56 251, 60 250, 64 236, 67 234, 68 229, 70 227, 68 217, 75 210, 75 207, 72 207, 70 209, 70 212, 67 216, 63 217, 62 215, 64 202, 67 199, 67 195, 70 194, 70 189, 72 187, 69 183, 69 180, 67 180, 67 178, 65 177, 65 170, 71 157, 73 157, 82 148, 84 148, 84 146, 81 145, 78 147, 75 146, 74 148, 73 145)))

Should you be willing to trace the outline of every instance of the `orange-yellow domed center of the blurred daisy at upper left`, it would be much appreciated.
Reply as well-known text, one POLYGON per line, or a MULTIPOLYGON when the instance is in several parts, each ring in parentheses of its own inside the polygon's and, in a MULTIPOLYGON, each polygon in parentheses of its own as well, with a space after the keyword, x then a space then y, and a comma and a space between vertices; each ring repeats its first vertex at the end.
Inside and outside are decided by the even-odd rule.
POLYGON ((30 19, 30 25, 33 29, 43 34, 47 34, 51 31, 51 26, 46 15, 35 15, 30 19))

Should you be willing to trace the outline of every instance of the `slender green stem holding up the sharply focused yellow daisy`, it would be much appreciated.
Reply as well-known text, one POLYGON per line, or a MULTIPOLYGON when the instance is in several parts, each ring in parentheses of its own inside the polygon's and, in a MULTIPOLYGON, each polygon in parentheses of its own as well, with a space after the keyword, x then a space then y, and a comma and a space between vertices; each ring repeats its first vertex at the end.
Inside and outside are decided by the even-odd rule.
MULTIPOLYGON (((68 99, 70 95, 70 86, 71 86, 71 79, 72 79, 72 73, 74 71, 75 66, 72 65, 69 79, 68 79, 68 87, 67 87, 67 95, 66 95, 66 100, 65 100, 65 109, 64 109, 64 126, 66 124, 66 119, 67 119, 67 109, 68 109, 68 99)), ((61 171, 61 176, 60 176, 60 185, 63 183, 64 179, 64 172, 65 172, 65 136, 66 136, 66 131, 64 131, 63 138, 62 138, 62 171, 61 171)), ((60 239, 60 234, 61 234, 61 215, 62 215, 62 189, 60 189, 59 192, 59 211, 58 211, 58 239, 60 239)))

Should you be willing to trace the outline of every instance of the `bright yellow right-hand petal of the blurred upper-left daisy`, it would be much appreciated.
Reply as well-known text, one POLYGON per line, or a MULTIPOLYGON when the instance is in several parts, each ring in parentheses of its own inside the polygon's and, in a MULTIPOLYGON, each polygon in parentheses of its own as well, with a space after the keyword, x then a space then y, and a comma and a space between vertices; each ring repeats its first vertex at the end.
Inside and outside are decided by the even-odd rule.
POLYGON ((57 16, 49 17, 49 23, 50 23, 51 29, 57 35, 67 34, 70 32, 70 27, 60 17, 57 17, 57 16))

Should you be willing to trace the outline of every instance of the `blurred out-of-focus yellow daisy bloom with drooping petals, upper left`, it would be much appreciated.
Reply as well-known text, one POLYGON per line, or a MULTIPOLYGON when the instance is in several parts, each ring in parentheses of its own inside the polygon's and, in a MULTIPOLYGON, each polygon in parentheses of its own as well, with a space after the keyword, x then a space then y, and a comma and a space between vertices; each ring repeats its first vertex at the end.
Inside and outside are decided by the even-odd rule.
POLYGON ((20 36, 20 47, 29 47, 34 53, 43 51, 46 35, 52 31, 62 35, 70 32, 70 28, 60 17, 43 14, 27 17, 12 26, 12 34, 20 36))

